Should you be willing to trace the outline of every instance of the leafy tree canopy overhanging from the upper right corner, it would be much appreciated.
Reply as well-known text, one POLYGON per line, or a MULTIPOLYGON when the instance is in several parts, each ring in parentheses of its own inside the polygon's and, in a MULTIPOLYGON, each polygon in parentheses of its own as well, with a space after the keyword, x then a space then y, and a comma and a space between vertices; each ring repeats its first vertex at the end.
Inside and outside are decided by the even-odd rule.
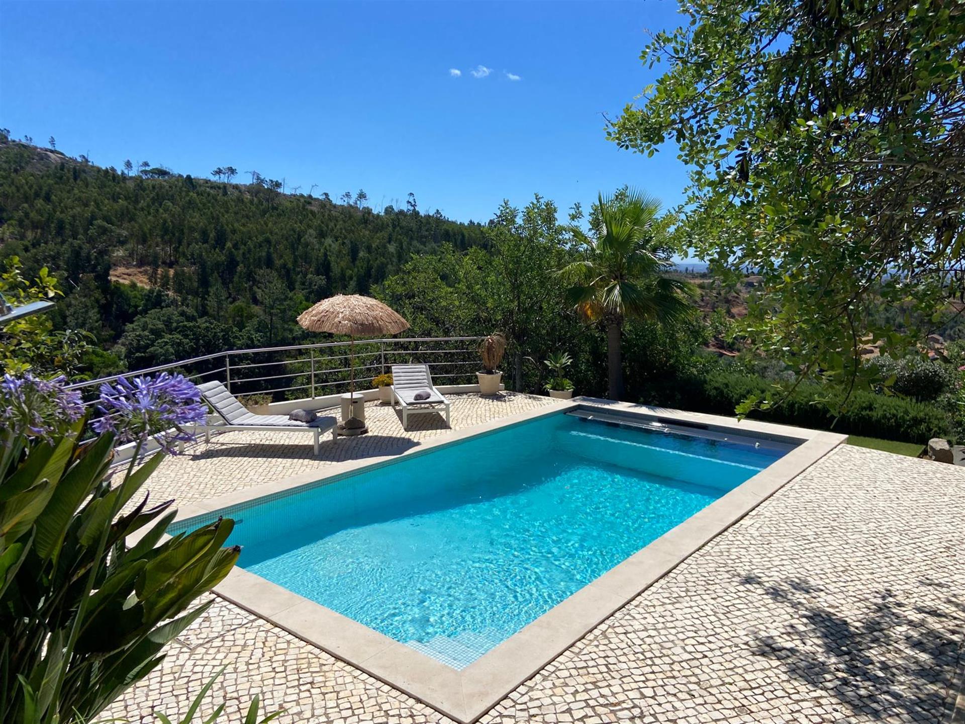
POLYGON ((853 384, 861 349, 915 344, 965 301, 965 3, 695 0, 645 64, 667 64, 609 127, 692 165, 685 242, 764 277, 746 331, 853 384), (904 312, 904 333, 875 320, 904 312))

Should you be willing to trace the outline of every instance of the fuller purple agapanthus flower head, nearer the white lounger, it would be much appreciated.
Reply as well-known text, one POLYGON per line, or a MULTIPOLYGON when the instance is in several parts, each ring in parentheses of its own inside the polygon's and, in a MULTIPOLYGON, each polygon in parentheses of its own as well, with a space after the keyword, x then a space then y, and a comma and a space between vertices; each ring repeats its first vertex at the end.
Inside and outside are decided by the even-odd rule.
POLYGON ((123 442, 152 437, 167 453, 177 453, 175 443, 194 435, 186 425, 204 424, 207 415, 201 393, 181 375, 162 372, 156 377, 119 377, 114 384, 100 385, 96 432, 115 432, 123 442))

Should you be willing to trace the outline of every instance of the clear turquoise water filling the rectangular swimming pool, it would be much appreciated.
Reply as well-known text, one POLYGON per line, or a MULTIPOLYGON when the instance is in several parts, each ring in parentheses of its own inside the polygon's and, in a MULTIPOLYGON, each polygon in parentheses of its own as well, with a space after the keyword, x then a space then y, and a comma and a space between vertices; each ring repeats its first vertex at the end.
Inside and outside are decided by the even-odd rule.
POLYGON ((226 512, 229 543, 462 668, 781 455, 558 414, 226 512))

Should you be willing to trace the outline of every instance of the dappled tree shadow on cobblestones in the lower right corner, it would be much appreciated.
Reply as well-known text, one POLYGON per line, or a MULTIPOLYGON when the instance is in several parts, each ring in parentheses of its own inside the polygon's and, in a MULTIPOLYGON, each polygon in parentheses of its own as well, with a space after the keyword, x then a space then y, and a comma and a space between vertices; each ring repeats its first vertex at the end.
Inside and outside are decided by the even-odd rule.
POLYGON ((906 714, 937 724, 951 714, 952 683, 965 652, 965 601, 948 584, 918 581, 942 589, 944 610, 908 603, 883 589, 865 600, 848 599, 849 609, 863 613, 845 616, 813 600, 827 590, 807 579, 775 583, 748 575, 741 582, 797 614, 780 633, 752 630, 754 654, 777 661, 793 678, 871 719, 906 714))

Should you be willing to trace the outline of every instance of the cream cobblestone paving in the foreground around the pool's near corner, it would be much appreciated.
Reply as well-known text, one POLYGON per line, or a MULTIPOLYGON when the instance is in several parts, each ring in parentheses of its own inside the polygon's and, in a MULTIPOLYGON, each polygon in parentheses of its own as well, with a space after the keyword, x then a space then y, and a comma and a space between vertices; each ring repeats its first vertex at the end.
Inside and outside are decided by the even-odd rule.
MULTIPOLYGON (((842 446, 482 721, 937 723, 962 655, 963 520, 965 469, 842 446)), ((287 722, 447 721, 215 600, 110 713, 183 711, 227 665, 211 702, 235 718, 260 692, 287 722)))

